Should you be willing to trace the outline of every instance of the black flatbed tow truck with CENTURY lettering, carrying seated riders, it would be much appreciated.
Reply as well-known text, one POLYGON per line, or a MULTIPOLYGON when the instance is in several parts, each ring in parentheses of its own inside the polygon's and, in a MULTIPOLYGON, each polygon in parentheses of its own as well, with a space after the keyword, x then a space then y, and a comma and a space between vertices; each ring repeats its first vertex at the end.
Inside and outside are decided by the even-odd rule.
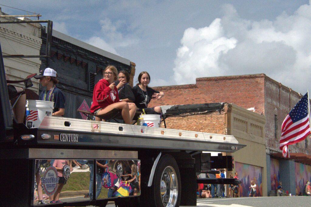
MULTIPOLYGON (((232 156, 213 157, 202 153, 235 152, 244 147, 230 135, 56 116, 45 116, 38 128, 17 124, 11 115, 1 46, 0 55, 1 206, 38 205, 36 173, 40 175, 43 193, 53 195, 57 174, 46 164, 57 159, 86 160, 94 168, 97 168, 96 161, 107 160, 111 172, 119 177, 127 167, 136 164, 140 193, 97 199, 72 196, 62 199, 63 203, 47 204, 49 206, 105 206, 108 201, 118 206, 196 206, 197 182, 237 182, 229 178, 197 180, 196 177, 211 168, 232 170, 232 156)), ((67 173, 64 171, 63 176, 68 179, 70 172, 67 173)), ((95 182, 96 173, 95 169, 87 173, 93 195, 96 186, 101 185, 95 182)))

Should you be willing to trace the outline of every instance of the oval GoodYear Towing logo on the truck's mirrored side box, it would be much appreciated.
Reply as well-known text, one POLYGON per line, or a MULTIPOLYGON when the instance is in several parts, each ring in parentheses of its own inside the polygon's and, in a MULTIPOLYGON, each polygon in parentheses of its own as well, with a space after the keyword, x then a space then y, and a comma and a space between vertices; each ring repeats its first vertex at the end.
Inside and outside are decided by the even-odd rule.
POLYGON ((43 189, 46 192, 46 194, 52 196, 57 189, 57 184, 59 181, 56 168, 53 166, 48 167, 45 170, 41 180, 43 184, 43 189))

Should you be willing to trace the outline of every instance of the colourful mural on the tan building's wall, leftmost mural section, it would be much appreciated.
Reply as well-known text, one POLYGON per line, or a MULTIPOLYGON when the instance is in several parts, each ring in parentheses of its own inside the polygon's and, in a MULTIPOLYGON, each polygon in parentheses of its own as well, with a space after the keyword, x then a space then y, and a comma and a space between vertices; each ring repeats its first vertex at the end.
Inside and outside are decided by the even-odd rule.
POLYGON ((239 173, 239 180, 241 181, 239 187, 240 197, 248 197, 251 180, 257 186, 256 196, 262 196, 262 167, 235 162, 235 172, 239 173))

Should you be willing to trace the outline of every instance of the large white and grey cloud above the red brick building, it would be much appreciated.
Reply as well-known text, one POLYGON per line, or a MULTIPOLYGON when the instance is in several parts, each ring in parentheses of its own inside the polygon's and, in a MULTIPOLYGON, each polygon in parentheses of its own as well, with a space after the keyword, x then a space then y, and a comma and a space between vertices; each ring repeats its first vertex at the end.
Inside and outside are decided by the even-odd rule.
POLYGON ((232 5, 208 27, 188 28, 176 52, 174 80, 195 83, 197 77, 266 73, 305 92, 311 75, 311 6, 300 6, 275 20, 239 17, 232 5))

